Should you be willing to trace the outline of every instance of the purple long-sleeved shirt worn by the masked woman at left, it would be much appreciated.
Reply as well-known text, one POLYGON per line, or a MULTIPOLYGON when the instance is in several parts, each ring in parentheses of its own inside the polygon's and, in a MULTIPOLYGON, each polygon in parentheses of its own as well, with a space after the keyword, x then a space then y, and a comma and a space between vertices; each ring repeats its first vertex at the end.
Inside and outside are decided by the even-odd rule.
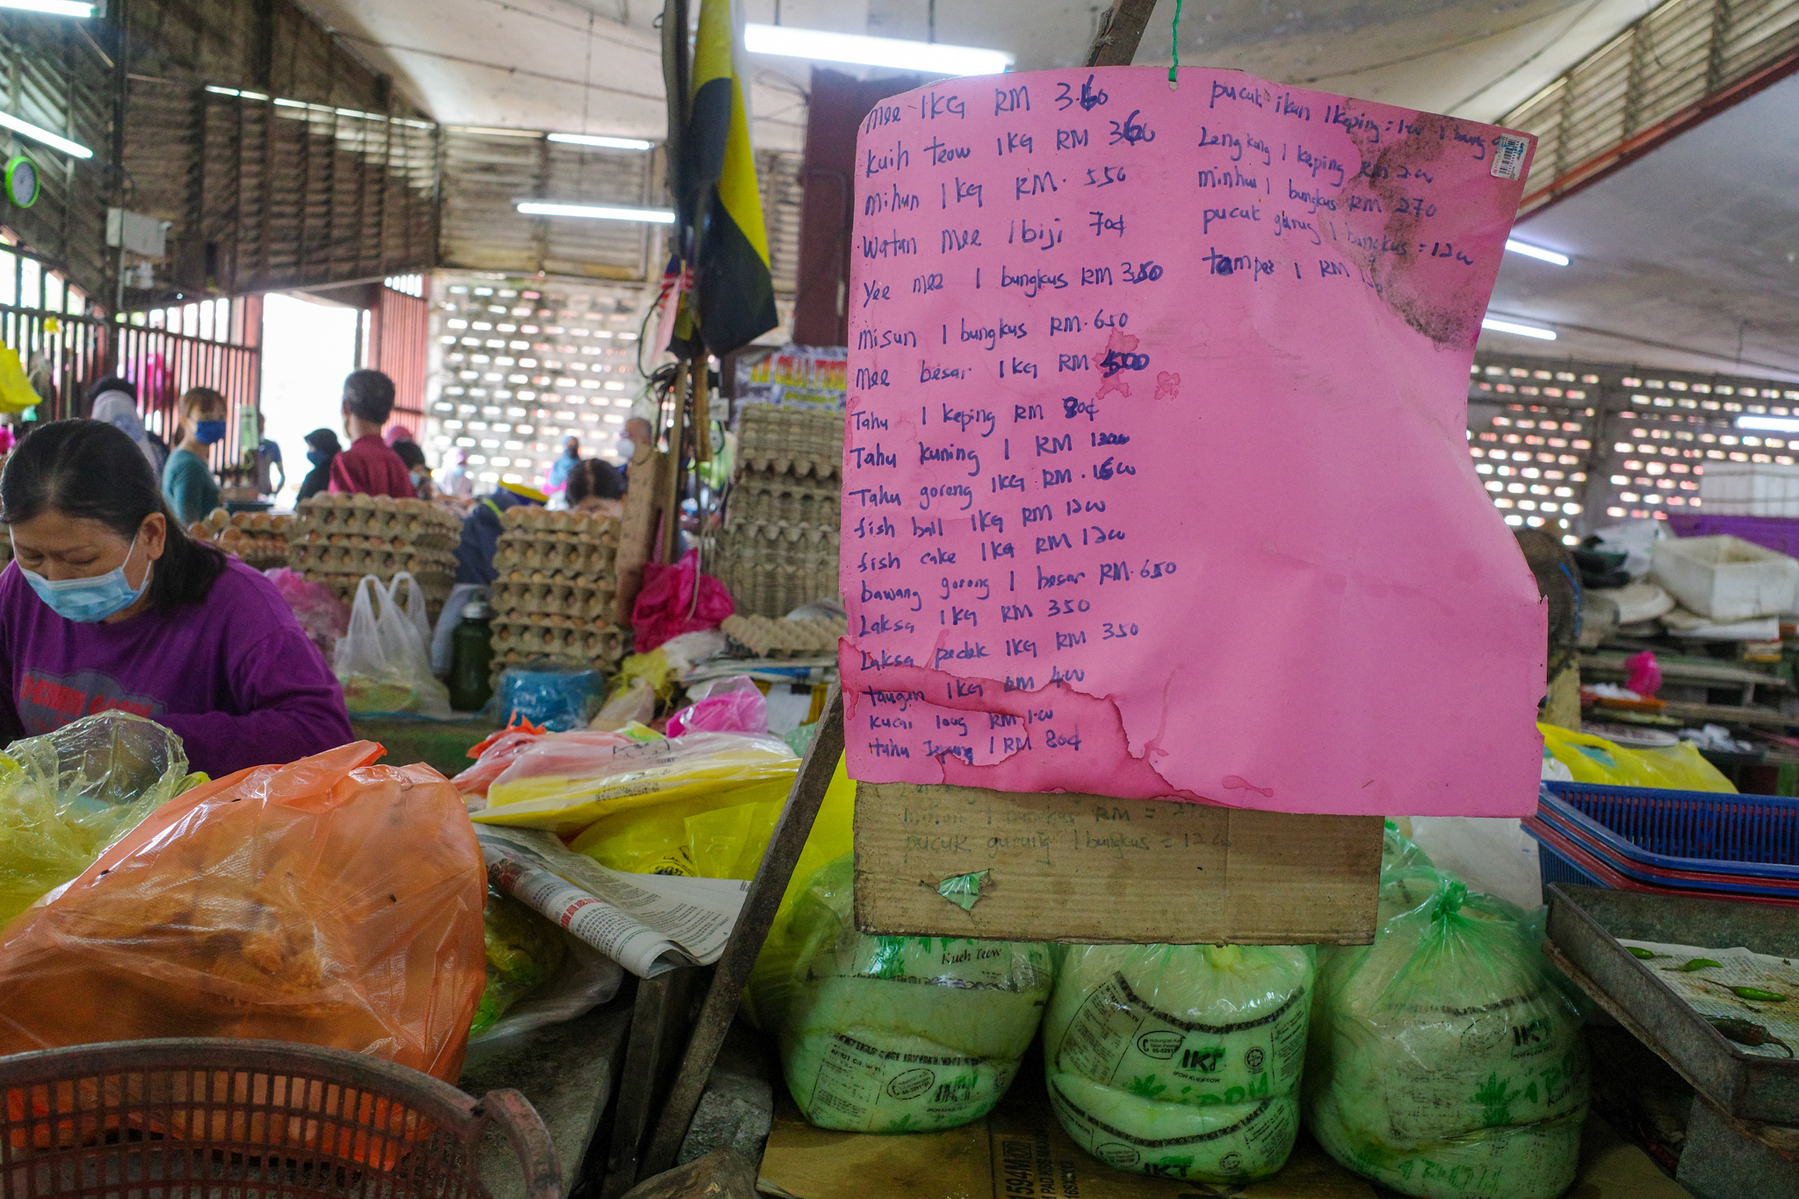
POLYGON ((344 690, 275 585, 232 558, 203 603, 119 621, 58 616, 0 572, 0 742, 121 708, 153 718, 212 778, 353 738, 344 690))

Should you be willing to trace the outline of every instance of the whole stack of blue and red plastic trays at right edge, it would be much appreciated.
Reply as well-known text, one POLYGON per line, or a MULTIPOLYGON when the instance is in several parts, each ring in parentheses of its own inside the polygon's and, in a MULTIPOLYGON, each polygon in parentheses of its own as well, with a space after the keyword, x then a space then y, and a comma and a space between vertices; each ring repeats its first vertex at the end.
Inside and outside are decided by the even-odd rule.
POLYGON ((1544 783, 1524 830, 1545 888, 1799 906, 1799 799, 1544 783))

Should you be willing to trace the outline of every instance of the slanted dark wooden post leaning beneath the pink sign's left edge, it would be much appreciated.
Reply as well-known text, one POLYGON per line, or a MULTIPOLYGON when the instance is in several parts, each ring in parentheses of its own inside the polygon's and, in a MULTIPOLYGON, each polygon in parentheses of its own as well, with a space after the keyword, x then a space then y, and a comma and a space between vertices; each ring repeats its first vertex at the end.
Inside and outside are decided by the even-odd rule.
POLYGON ((806 760, 799 765, 786 807, 768 839, 768 852, 756 870, 748 895, 743 897, 743 911, 738 913, 738 924, 732 925, 730 940, 725 942, 725 952, 712 972, 705 1006, 700 1008, 700 1019, 694 1021, 687 1055, 682 1059, 675 1087, 669 1091, 667 1104, 657 1118, 657 1131, 644 1150, 639 1179, 662 1174, 675 1165, 675 1154, 680 1152, 687 1125, 693 1123, 705 1080, 718 1060, 720 1046, 725 1044, 725 1032, 738 1015, 738 1001, 750 981, 757 954, 763 952, 763 942, 768 940, 768 929, 774 927, 781 897, 786 895, 788 882, 793 879, 793 866, 799 862, 801 850, 806 848, 806 837, 811 835, 811 825, 819 817, 819 803, 824 801, 831 776, 837 774, 837 760, 842 756, 844 697, 833 686, 824 717, 819 720, 819 733, 811 738, 806 760))

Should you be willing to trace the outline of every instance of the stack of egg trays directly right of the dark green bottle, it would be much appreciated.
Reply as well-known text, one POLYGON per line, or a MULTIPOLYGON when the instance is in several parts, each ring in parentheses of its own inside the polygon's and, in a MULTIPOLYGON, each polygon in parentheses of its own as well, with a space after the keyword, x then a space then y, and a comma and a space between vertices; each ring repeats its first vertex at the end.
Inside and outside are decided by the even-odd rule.
POLYGON ((493 677, 556 661, 603 675, 630 650, 612 623, 619 522, 579 511, 507 508, 493 556, 493 677))

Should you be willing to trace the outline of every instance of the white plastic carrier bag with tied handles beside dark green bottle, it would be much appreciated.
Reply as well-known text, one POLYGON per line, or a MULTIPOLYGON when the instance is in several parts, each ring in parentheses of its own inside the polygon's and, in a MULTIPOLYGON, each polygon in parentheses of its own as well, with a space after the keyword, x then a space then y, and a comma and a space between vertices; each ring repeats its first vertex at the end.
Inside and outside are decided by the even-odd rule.
POLYGON ((362 578, 335 666, 351 715, 450 718, 450 690, 432 675, 425 590, 407 571, 396 574, 389 587, 381 587, 374 574, 362 578))

